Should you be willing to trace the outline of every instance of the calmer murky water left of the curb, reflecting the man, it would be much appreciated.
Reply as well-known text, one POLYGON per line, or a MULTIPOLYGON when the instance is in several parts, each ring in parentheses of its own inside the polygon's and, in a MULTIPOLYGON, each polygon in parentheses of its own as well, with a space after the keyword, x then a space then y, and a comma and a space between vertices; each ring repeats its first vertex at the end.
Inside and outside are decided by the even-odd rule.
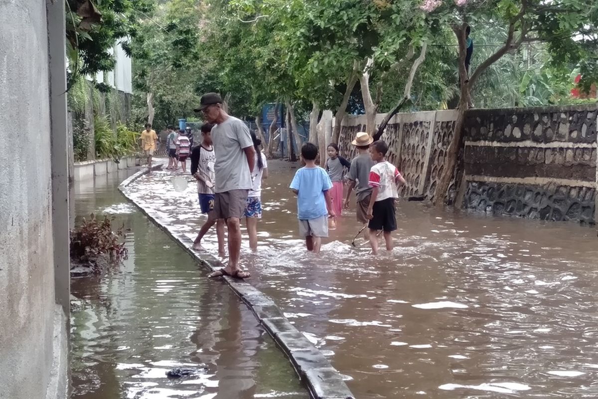
POLYGON ((71 282, 72 398, 307 399, 253 313, 118 192, 135 170, 75 187, 77 221, 114 215, 129 257, 71 282), (197 374, 169 380, 173 367, 197 374))

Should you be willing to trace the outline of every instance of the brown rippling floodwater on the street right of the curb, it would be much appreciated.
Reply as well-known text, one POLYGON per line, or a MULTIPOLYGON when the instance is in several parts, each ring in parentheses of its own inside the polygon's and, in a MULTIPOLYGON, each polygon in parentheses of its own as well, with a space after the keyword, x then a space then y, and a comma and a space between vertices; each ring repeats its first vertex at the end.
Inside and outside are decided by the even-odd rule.
MULTIPOLYGON (((352 210, 315 257, 297 236, 294 167, 270 163, 258 254, 245 235, 242 263, 356 397, 598 395, 595 230, 400 202, 392 252, 349 245, 352 210)), ((173 175, 152 172, 129 193, 194 238, 195 186, 178 193, 173 175)), ((206 245, 215 255, 215 234, 206 245)))

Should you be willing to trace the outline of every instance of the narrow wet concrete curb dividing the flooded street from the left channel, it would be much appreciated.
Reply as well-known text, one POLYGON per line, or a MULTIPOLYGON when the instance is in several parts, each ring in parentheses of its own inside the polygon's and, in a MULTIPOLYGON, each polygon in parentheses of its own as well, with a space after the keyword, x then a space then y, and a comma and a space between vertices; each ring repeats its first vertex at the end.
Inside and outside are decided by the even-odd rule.
MULTIPOLYGON (((152 170, 160 169, 162 165, 152 167, 152 170)), ((176 240, 176 242, 193 257, 197 263, 207 267, 210 271, 219 270, 224 267, 212 255, 200 257, 193 249, 193 241, 182 233, 171 232, 166 222, 158 220, 154 215, 149 214, 142 206, 135 202, 127 193, 127 186, 136 179, 149 172, 149 169, 141 170, 124 180, 118 190, 143 212, 149 220, 156 224, 164 233, 176 240)), ((282 310, 274 301, 255 288, 248 282, 225 277, 224 281, 228 287, 240 297, 240 299, 251 309, 255 317, 268 331, 276 345, 285 353, 297 374, 309 388, 312 398, 315 399, 355 399, 341 374, 332 367, 327 358, 324 357, 307 338, 301 334, 285 317, 282 310)))

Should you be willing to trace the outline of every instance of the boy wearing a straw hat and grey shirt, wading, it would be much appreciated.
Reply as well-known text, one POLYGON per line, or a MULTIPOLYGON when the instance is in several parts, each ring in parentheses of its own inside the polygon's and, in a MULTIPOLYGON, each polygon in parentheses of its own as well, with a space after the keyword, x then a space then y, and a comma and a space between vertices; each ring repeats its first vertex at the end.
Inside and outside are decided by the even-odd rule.
POLYGON ((351 142, 351 144, 355 145, 359 154, 351 161, 349 175, 347 175, 349 178, 349 189, 344 199, 344 208, 349 209, 349 199, 353 188, 355 188, 357 221, 359 223, 368 223, 369 221, 367 212, 368 206, 370 206, 372 187, 368 185, 368 181, 370 178, 370 169, 376 163, 371 159, 370 153, 368 153, 372 142, 374 142, 374 139, 365 132, 358 132, 355 140, 351 142))

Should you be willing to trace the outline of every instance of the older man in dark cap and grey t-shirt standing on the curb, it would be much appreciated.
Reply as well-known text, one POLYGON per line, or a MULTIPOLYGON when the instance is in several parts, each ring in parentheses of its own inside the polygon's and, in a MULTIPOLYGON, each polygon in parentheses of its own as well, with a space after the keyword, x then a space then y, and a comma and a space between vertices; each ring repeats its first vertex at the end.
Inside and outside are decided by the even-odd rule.
POLYGON ((214 218, 224 219, 228 227, 228 265, 210 274, 210 278, 250 276, 239 267, 241 252, 241 218, 254 170, 255 149, 248 127, 242 120, 228 115, 222 108, 222 98, 216 93, 202 96, 199 108, 205 121, 215 124, 212 142, 216 155, 214 164, 214 218))

